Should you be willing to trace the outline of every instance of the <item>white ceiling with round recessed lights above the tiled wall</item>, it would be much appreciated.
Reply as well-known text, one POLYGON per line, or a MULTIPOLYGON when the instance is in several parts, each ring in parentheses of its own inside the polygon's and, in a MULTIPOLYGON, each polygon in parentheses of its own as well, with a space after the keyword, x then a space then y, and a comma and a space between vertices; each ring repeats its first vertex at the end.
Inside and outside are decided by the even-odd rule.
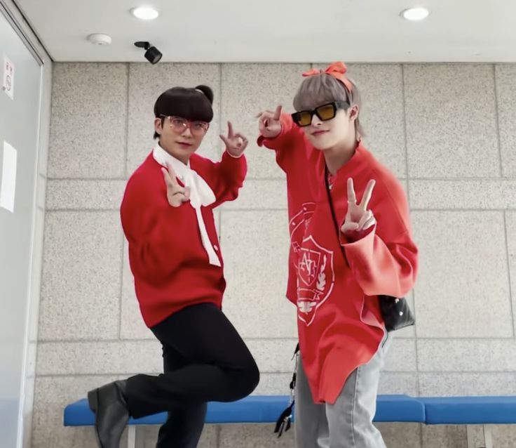
POLYGON ((142 62, 138 40, 163 62, 516 62, 516 0, 16 0, 57 61, 142 62), (160 11, 151 22, 129 10, 160 11), (86 40, 106 33, 110 46, 86 40))

